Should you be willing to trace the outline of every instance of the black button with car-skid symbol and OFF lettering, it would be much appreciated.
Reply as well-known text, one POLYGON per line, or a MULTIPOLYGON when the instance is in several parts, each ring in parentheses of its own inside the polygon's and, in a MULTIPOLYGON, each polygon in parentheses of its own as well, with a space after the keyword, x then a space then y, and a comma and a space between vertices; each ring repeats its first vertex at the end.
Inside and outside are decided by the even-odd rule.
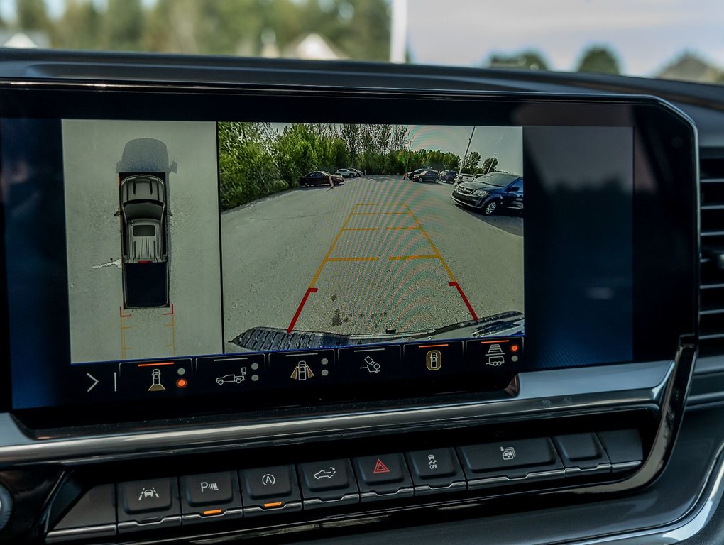
POLYGON ((465 476, 453 449, 408 452, 415 494, 465 490, 465 476))

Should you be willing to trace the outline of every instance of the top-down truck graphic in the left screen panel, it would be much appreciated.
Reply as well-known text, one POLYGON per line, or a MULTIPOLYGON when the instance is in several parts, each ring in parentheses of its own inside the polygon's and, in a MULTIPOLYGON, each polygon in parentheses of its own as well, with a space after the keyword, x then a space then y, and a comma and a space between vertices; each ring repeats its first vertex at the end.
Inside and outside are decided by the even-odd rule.
POLYGON ((170 172, 176 164, 154 138, 130 140, 117 164, 125 308, 169 306, 170 172))

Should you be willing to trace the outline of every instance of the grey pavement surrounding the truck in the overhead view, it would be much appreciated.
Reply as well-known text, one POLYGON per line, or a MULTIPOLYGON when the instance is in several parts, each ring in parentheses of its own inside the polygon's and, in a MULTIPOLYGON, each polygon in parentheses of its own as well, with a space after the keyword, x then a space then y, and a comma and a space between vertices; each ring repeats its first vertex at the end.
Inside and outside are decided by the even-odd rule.
POLYGON ((64 121, 63 161, 73 363, 222 350, 214 123, 64 121), (167 183, 171 308, 122 310, 117 162, 156 138, 177 161, 167 183))

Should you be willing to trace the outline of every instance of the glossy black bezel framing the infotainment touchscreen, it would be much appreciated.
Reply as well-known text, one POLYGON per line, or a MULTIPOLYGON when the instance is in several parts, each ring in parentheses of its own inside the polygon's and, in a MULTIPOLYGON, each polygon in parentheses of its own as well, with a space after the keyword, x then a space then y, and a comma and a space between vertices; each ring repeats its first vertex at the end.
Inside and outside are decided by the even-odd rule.
MULTIPOLYGON (((699 265, 696 132, 686 117, 657 98, 279 86, 193 88, 180 85, 35 83, 12 87, 2 85, 0 117, 633 127, 636 135, 633 165, 633 361, 673 358, 678 339, 685 334, 696 334, 699 265), (662 150, 666 151, 664 155, 660 153, 662 150), (662 210, 652 211, 649 208, 645 197, 650 194, 651 187, 649 185, 647 190, 642 190, 644 178, 648 184, 654 183, 657 198, 665 203, 663 208, 676 211, 670 216, 670 223, 661 224, 658 214, 662 210), (682 202, 690 206, 681 207, 682 202), (666 242, 672 239, 681 244, 669 245, 666 242), (657 244, 660 240, 665 243, 657 244), (662 263, 665 266, 662 267, 662 263), (654 277, 656 281, 651 282, 654 277), (667 297, 662 297, 662 293, 667 297)), ((2 249, 1 259, 4 260, 2 249)), ((526 250, 526 258, 527 254, 526 250)), ((4 263, 2 265, 4 278, 4 263)), ((6 282, 3 282, 2 288, 0 303, 4 303, 3 312, 7 317, 6 282)), ((6 365, 0 373, 4 379, 2 383, 8 385, 11 384, 7 353, 9 333, 7 327, 4 329, 2 345, 6 352, 6 365)), ((433 387, 420 392, 420 400, 450 391, 455 389, 433 387)), ((0 393, 0 407, 9 410, 12 407, 10 392, 0 393)), ((393 387, 381 389, 377 399, 389 400, 395 396, 393 387)), ((142 415, 148 408, 152 408, 159 417, 170 417, 230 412, 241 407, 238 402, 229 400, 199 400, 208 403, 203 410, 198 406, 190 409, 186 407, 188 400, 180 400, 170 404, 164 402, 164 405, 143 403, 138 412, 124 410, 123 415, 119 415, 117 405, 94 407, 93 418, 89 418, 87 408, 82 407, 20 410, 17 415, 33 427, 48 427, 143 419, 142 415)), ((327 401, 366 402, 371 398, 320 398, 320 392, 309 392, 287 406, 303 407, 327 401)))

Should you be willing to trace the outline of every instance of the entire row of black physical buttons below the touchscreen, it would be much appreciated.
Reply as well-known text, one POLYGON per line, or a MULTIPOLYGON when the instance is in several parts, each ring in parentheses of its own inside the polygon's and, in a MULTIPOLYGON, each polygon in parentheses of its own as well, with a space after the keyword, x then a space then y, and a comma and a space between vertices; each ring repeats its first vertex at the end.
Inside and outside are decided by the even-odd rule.
POLYGON ((86 504, 86 497, 103 497, 101 491, 100 496, 93 496, 96 489, 104 488, 96 487, 54 529, 59 532, 58 538, 91 530, 112 534, 116 520, 118 531, 126 532, 219 517, 311 510, 581 473, 609 473, 633 468, 641 459, 638 432, 627 430, 278 465, 238 473, 225 471, 182 476, 178 481, 156 478, 119 483, 117 517, 115 512, 111 517, 99 517, 99 510, 106 508, 104 502, 100 505, 93 500, 86 504), (93 527, 88 527, 91 520, 93 527), (98 526, 101 523, 104 525, 98 526))

